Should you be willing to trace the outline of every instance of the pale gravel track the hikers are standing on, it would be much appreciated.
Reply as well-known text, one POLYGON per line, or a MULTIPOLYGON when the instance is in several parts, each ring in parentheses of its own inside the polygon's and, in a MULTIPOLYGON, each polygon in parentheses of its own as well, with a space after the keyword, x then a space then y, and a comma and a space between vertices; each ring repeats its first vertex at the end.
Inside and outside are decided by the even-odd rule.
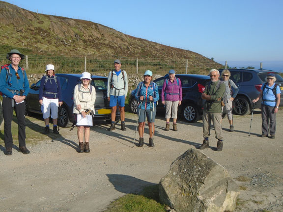
MULTIPOLYGON (((217 140, 212 131, 212 147, 202 151, 241 185, 238 212, 283 211, 282 120, 280 110, 276 139, 270 139, 258 137, 259 110, 254 113, 250 137, 251 115, 234 117, 235 132, 227 132, 225 119, 224 150, 214 151, 217 140)), ((15 147, 12 156, 5 156, 0 146, 0 211, 101 212, 119 196, 158 184, 174 159, 202 143, 202 121, 179 121, 178 132, 166 132, 163 117, 157 116, 155 148, 132 148, 136 121, 136 115, 127 113, 125 132, 108 132, 104 122, 92 127, 90 153, 76 152, 76 129, 61 128, 62 136, 42 135, 41 142, 28 145, 30 155, 15 147)), ((43 121, 28 127, 38 125, 43 126, 43 121)), ((147 126, 145 141, 148 143, 147 126)))

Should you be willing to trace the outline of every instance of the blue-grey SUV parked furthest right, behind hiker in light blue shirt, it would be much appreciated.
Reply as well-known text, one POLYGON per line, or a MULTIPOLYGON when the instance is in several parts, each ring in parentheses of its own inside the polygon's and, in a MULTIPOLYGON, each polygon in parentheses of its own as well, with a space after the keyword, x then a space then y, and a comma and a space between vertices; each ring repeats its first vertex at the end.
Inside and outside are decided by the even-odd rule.
MULTIPOLYGON (((220 69, 221 72, 224 69, 220 69)), ((258 97, 260 88, 265 82, 265 78, 269 73, 275 74, 276 82, 280 86, 280 90, 283 91, 283 78, 271 70, 264 69, 231 69, 231 77, 235 84, 239 88, 239 92, 234 100, 233 113, 236 115, 250 114, 253 107, 253 99, 258 97)), ((255 108, 260 108, 261 100, 255 103, 255 108)), ((283 105, 283 95, 281 95, 280 106, 283 105)))

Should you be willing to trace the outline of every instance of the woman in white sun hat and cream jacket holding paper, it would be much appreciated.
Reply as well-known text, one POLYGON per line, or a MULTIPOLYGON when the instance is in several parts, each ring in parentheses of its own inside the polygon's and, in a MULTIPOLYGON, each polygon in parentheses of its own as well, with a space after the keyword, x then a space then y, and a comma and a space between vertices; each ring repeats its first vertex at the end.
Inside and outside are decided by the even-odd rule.
MULTIPOLYGON (((90 84, 91 76, 90 73, 84 72, 80 78, 82 83, 75 86, 74 89, 74 107, 73 113, 77 120, 77 115, 82 114, 86 117, 86 111, 94 111, 94 102, 96 98, 95 88, 90 84)), ((79 139, 79 153, 89 153, 89 132, 90 126, 78 126, 78 139, 79 139), (85 135, 85 145, 84 145, 85 135)))

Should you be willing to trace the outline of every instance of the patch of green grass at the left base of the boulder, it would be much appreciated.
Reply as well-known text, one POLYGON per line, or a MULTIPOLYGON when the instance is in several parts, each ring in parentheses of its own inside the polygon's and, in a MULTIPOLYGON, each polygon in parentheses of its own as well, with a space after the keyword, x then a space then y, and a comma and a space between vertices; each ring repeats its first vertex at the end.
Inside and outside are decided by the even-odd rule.
POLYGON ((140 194, 120 197, 104 212, 166 212, 165 205, 158 201, 158 185, 148 186, 140 194))

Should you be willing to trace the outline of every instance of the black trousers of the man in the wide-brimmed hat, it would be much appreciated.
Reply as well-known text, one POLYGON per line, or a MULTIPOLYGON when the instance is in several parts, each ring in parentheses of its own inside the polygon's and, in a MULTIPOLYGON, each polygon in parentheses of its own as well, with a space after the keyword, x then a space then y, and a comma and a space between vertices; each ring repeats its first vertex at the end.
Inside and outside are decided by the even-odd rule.
POLYGON ((16 111, 16 116, 18 119, 18 137, 19 146, 26 146, 26 104, 25 102, 21 104, 16 104, 14 99, 8 97, 3 98, 3 118, 4 118, 4 142, 5 147, 13 146, 13 137, 11 132, 13 110, 16 111), (14 101, 14 107, 12 107, 12 101, 14 101))

